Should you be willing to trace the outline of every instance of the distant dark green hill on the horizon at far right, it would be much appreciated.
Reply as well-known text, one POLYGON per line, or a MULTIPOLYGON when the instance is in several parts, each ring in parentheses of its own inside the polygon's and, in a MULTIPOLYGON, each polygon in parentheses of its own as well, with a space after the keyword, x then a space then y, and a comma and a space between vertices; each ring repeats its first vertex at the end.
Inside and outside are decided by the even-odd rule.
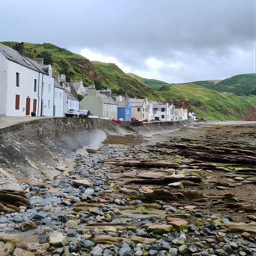
POLYGON ((196 81, 193 83, 218 92, 256 95, 256 74, 238 74, 217 83, 211 81, 196 81))

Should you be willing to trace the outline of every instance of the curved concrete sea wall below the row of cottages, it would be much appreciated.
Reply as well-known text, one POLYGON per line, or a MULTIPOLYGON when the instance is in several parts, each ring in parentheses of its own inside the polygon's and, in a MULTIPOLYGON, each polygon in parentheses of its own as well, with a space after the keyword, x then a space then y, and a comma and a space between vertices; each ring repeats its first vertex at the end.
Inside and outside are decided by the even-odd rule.
POLYGON ((98 148, 111 135, 160 133, 191 124, 192 121, 149 124, 104 119, 46 118, 0 129, 0 168, 18 181, 43 182, 52 179, 74 162, 81 148, 98 148))

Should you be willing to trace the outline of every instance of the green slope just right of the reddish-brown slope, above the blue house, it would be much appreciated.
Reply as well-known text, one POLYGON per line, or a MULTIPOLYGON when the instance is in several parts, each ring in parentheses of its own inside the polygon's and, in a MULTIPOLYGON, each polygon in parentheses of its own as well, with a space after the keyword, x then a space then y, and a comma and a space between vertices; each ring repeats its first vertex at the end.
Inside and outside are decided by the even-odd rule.
POLYGON ((112 82, 111 88, 117 90, 119 93, 125 93, 131 97, 147 97, 148 100, 162 100, 162 97, 155 90, 133 76, 125 74, 114 63, 103 63, 99 61, 93 61, 93 63, 101 74, 112 82))

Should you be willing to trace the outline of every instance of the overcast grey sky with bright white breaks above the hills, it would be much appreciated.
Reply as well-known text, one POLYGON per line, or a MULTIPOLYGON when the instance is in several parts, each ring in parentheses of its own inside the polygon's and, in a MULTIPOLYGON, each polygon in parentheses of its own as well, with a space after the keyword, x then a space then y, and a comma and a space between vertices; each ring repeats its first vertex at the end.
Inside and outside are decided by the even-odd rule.
POLYGON ((169 83, 256 72, 256 0, 1 0, 0 41, 50 42, 169 83))

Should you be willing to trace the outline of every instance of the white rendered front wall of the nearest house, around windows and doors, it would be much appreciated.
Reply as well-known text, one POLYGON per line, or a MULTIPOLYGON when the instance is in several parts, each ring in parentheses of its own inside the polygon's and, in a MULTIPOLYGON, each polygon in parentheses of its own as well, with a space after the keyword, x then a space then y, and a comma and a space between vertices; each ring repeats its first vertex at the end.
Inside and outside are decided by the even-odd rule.
POLYGON ((29 115, 33 111, 33 101, 37 102, 36 115, 38 113, 38 84, 39 72, 21 66, 13 61, 7 61, 7 116, 26 116, 26 99, 30 98, 29 115), (16 87, 16 72, 20 73, 20 87, 16 87), (37 81, 34 92, 34 79, 37 81), (15 109, 15 95, 20 95, 20 108, 15 109))

